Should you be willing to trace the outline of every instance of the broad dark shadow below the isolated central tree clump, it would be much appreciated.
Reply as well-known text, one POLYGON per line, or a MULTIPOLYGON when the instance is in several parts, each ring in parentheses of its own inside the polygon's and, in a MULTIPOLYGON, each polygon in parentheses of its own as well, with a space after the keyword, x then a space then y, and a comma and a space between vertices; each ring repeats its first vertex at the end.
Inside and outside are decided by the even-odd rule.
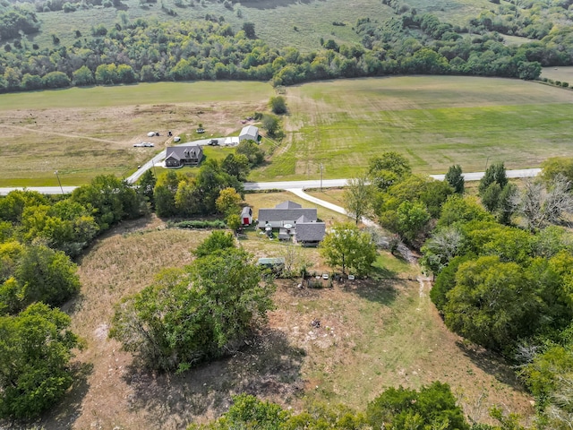
POLYGON ((129 404, 144 411, 157 428, 180 428, 208 410, 227 411, 231 396, 246 392, 278 401, 304 389, 300 369, 304 350, 294 348, 282 331, 265 329, 233 357, 184 374, 154 374, 132 367, 124 378, 133 388, 129 404))

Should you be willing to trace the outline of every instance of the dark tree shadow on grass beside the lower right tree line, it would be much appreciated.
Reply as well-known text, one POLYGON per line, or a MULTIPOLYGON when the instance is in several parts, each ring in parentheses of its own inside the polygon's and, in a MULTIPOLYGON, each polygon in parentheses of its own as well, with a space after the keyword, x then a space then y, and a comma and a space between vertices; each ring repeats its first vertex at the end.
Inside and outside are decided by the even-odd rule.
POLYGON ((500 383, 505 383, 514 390, 526 391, 526 387, 519 382, 515 372, 511 370, 511 366, 503 357, 461 340, 458 340, 456 345, 466 357, 472 360, 475 366, 478 366, 486 374, 491 374, 500 383))

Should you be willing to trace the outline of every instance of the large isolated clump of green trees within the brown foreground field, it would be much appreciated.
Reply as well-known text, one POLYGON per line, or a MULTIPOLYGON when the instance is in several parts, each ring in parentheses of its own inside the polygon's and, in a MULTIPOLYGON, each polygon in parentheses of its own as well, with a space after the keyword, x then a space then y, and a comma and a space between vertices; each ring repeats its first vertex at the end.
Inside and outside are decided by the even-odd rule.
POLYGON ((272 284, 231 233, 213 232, 194 253, 189 266, 161 271, 116 307, 110 337, 145 366, 183 372, 225 356, 273 308, 272 284))

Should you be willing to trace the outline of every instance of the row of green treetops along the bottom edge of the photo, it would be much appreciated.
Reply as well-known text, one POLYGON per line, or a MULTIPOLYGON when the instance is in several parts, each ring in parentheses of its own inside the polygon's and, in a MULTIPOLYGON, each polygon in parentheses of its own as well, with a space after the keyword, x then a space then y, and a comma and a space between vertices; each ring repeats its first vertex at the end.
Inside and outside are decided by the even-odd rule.
POLYGON ((365 413, 341 405, 313 402, 304 411, 295 414, 277 404, 258 400, 252 395, 240 394, 233 398, 231 408, 218 420, 209 424, 191 425, 187 429, 523 430, 516 416, 503 416, 499 409, 492 409, 491 415, 499 425, 470 426, 463 411, 456 404, 449 385, 435 382, 423 386, 419 391, 402 387, 389 388, 366 405, 365 413))

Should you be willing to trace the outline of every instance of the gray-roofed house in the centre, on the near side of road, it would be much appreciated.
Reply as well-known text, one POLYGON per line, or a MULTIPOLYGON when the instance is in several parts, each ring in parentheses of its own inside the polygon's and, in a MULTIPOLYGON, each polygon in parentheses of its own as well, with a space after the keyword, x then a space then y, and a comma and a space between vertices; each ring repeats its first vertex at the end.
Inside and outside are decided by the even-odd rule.
POLYGON ((326 232, 326 225, 317 218, 316 208, 303 208, 290 201, 272 209, 261 208, 258 227, 267 233, 278 231, 279 239, 292 239, 302 245, 318 245, 326 232))

